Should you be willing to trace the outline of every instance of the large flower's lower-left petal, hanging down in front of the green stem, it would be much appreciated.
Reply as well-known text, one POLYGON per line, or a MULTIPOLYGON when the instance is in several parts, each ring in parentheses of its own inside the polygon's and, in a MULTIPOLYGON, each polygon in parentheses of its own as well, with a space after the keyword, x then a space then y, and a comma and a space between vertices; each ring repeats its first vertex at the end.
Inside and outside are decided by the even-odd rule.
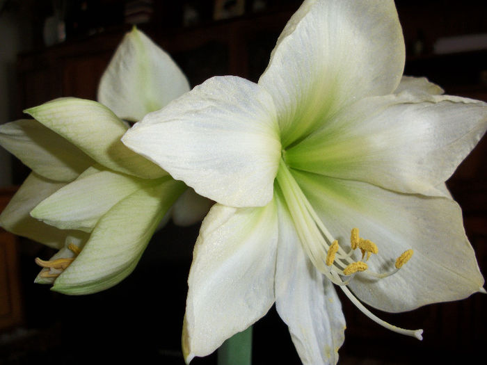
POLYGON ((276 204, 215 204, 202 223, 189 273, 183 330, 186 363, 206 356, 271 308, 278 240, 276 204))

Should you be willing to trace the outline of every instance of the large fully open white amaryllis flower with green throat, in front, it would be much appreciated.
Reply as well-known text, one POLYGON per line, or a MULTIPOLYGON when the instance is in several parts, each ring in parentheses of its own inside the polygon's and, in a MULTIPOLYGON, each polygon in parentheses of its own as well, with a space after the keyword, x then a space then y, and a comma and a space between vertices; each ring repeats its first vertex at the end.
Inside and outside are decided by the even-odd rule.
POLYGON ((195 245, 186 362, 275 302, 303 363, 335 364, 333 284, 417 338, 360 301, 399 312, 483 290, 445 181, 484 134, 486 104, 401 82, 404 59, 392 0, 304 1, 257 84, 209 79, 122 138, 218 203, 195 245))

